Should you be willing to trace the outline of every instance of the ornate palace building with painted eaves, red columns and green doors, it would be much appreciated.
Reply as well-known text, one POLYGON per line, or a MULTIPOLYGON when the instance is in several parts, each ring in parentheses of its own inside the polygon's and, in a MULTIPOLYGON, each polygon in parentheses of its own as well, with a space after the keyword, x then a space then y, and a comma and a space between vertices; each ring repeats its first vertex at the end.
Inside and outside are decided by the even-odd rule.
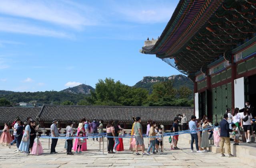
POLYGON ((180 0, 154 54, 194 81, 194 113, 222 119, 226 108, 256 105, 256 1, 180 0))

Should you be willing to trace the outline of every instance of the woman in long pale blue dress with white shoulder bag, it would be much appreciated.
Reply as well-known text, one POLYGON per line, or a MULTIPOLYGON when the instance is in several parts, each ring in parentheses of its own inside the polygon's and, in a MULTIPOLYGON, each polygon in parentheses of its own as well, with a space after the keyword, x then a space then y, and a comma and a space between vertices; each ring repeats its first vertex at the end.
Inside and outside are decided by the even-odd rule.
POLYGON ((25 132, 22 136, 20 147, 19 147, 20 152, 23 152, 24 154, 28 154, 28 150, 29 150, 29 139, 30 139, 30 132, 31 132, 30 125, 32 126, 32 123, 31 121, 28 121, 25 127, 25 132))

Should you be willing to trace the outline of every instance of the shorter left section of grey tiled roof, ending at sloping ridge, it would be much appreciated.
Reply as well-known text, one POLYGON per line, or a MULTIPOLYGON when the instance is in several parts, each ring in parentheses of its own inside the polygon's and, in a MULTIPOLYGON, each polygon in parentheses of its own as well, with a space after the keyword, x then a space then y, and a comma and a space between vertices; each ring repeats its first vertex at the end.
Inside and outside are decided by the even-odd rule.
POLYGON ((39 116, 40 111, 40 107, 0 107, 0 123, 12 123, 17 117, 19 117, 22 121, 26 121, 27 117, 36 119, 39 116))

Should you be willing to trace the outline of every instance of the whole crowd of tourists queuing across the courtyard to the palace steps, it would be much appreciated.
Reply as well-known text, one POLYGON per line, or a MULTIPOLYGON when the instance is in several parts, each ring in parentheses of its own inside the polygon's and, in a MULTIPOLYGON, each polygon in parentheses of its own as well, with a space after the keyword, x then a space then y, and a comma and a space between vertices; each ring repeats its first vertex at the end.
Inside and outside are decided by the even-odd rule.
MULTIPOLYGON (((140 155, 138 150, 142 151, 142 155, 156 154, 157 152, 163 152, 163 137, 164 137, 164 125, 157 125, 155 121, 148 121, 146 135, 143 135, 142 124, 140 117, 132 117, 134 123, 130 136, 130 150, 136 151, 136 155, 140 155), (144 138, 148 138, 148 150, 145 152, 144 138)), ((224 143, 228 146, 228 156, 233 155, 230 152, 230 134, 234 139, 234 145, 239 145, 239 137, 244 135, 246 143, 250 143, 251 134, 256 133, 256 116, 253 111, 253 107, 249 102, 246 102, 246 107, 239 112, 238 108, 235 108, 231 112, 230 108, 227 108, 226 113, 223 115, 223 119, 218 123, 212 125, 206 115, 202 119, 196 119, 196 116, 192 115, 188 122, 188 117, 178 115, 171 125, 171 132, 169 134, 169 143, 171 150, 178 150, 178 137, 179 131, 189 131, 184 133, 190 133, 191 135, 191 152, 208 152, 210 147, 209 140, 213 139, 214 145, 220 147, 221 156, 225 156, 223 152, 224 143), (181 124, 179 124, 181 123, 181 124), (180 127, 180 129, 179 129, 180 127), (243 134, 244 133, 244 134, 243 134), (195 142, 196 151, 193 148, 195 142)), ((72 149, 76 153, 81 153, 87 150, 86 140, 92 138, 93 141, 102 141, 102 136, 108 138, 108 153, 116 153, 124 150, 123 136, 124 136, 124 124, 116 121, 108 121, 106 125, 106 135, 103 131, 103 122, 95 121, 92 122, 82 118, 78 124, 77 131, 73 129, 74 122, 68 121, 66 127, 66 148, 67 154, 73 154, 72 149)), ((10 123, 5 123, 2 135, 0 137, 0 145, 8 146, 9 148, 16 143, 16 152, 24 152, 24 154, 42 154, 43 148, 38 137, 38 127, 35 126, 36 122, 27 118, 26 123, 22 122, 17 118, 13 123, 12 127, 10 123), (13 129, 13 135, 10 134, 10 129, 13 129)), ((56 154, 56 145, 58 137, 60 136, 60 130, 58 129, 58 120, 54 119, 50 127, 50 133, 52 139, 51 154, 56 154)), ((168 134, 165 134, 168 135, 168 134)))

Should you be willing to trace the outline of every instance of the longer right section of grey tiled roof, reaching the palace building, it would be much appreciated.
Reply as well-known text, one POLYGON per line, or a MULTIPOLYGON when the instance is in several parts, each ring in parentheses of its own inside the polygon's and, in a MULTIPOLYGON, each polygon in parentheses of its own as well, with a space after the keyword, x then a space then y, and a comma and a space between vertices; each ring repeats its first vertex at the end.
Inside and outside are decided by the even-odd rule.
POLYGON ((77 105, 43 105, 40 114, 41 121, 79 121, 88 120, 118 120, 131 122, 131 117, 140 116, 143 121, 152 119, 156 122, 170 123, 178 114, 186 113, 188 117, 194 114, 192 107, 135 107, 135 106, 77 106, 77 105))

